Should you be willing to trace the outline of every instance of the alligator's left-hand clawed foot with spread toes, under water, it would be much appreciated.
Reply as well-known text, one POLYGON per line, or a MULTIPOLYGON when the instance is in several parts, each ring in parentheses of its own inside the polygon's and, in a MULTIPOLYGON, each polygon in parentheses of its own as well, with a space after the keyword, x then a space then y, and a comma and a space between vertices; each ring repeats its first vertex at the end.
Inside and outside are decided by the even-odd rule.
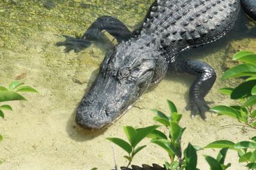
POLYGON ((64 52, 70 52, 71 50, 74 50, 74 52, 77 53, 91 45, 91 41, 86 39, 74 38, 66 35, 64 35, 64 37, 66 38, 66 41, 60 41, 56 43, 57 46, 66 47, 64 52))

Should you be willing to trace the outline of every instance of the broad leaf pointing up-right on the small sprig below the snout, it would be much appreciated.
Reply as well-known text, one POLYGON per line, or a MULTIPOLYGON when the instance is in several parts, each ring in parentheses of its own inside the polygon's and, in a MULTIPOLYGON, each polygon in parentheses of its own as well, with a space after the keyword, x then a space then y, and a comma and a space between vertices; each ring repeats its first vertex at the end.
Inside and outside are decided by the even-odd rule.
POLYGON ((149 127, 143 127, 140 128, 139 130, 137 129, 138 134, 136 135, 136 138, 134 138, 134 141, 132 142, 132 146, 136 147, 138 143, 143 140, 148 134, 150 134, 154 129, 158 128, 158 125, 153 125, 149 127))

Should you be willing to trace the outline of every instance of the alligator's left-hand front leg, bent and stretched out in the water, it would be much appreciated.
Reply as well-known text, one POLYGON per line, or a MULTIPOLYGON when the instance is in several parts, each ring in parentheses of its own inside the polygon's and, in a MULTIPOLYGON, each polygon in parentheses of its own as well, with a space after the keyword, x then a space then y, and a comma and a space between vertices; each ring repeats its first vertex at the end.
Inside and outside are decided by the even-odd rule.
POLYGON ((66 41, 58 42, 56 45, 64 45, 66 47, 65 52, 71 50, 80 52, 84 48, 89 47, 91 43, 100 43, 100 46, 111 44, 109 39, 102 33, 102 30, 109 32, 118 43, 120 41, 126 41, 131 37, 131 32, 124 23, 116 18, 103 16, 94 21, 81 37, 65 36, 66 41))

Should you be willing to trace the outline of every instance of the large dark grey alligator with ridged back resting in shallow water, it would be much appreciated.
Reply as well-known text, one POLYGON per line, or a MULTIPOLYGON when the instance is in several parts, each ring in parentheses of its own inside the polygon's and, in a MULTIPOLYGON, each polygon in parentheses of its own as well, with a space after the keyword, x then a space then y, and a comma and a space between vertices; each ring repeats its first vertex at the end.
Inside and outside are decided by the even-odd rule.
POLYGON ((84 129, 102 129, 120 118, 167 70, 196 76, 189 90, 188 109, 205 119, 210 108, 205 96, 216 79, 203 61, 178 57, 183 50, 216 41, 229 32, 241 14, 240 6, 256 20, 255 0, 157 0, 140 28, 129 31, 120 20, 99 17, 83 36, 65 36, 65 52, 80 52, 106 41, 102 30, 118 44, 107 51, 97 78, 77 107, 75 121, 84 129))

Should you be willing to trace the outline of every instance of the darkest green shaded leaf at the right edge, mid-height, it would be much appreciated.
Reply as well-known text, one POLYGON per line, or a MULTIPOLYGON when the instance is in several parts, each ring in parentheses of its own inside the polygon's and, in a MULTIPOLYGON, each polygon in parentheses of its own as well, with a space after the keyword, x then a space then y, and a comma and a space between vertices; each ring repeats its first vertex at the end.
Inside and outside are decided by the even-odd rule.
MULTIPOLYGON (((256 67, 256 66, 255 66, 256 67)), ((250 91, 256 85, 256 80, 253 81, 246 81, 241 83, 231 93, 230 97, 232 99, 239 99, 251 96, 250 91)))

